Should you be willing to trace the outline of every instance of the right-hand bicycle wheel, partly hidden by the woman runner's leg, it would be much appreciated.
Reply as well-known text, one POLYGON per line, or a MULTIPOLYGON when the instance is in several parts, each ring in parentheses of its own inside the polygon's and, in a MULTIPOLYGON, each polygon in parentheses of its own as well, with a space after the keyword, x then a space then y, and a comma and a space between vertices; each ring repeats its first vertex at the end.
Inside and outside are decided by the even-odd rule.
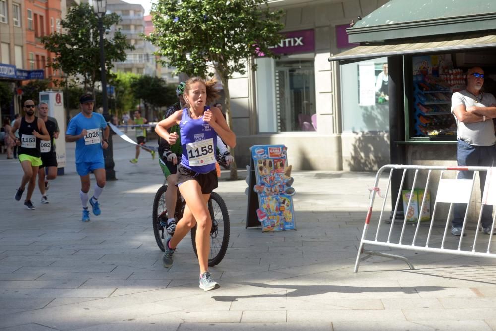
MULTIPOLYGON (((231 226, 227 206, 221 196, 212 192, 208 200, 208 211, 212 218, 212 229, 210 230, 210 253, 208 254, 208 266, 218 265, 227 252, 231 226)), ((196 257, 196 226, 191 229, 191 242, 196 257)))

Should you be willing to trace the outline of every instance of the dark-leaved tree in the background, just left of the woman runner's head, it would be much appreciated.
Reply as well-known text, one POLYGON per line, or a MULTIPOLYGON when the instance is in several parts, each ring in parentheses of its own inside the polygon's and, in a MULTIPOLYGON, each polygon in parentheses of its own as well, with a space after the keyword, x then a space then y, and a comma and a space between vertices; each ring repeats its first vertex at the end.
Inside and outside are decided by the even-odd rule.
POLYGON ((152 116, 161 118, 158 115, 158 108, 165 107, 176 102, 175 88, 165 84, 162 78, 155 76, 139 76, 131 80, 131 90, 137 99, 141 99, 145 106, 145 114, 148 120, 149 111, 152 116))

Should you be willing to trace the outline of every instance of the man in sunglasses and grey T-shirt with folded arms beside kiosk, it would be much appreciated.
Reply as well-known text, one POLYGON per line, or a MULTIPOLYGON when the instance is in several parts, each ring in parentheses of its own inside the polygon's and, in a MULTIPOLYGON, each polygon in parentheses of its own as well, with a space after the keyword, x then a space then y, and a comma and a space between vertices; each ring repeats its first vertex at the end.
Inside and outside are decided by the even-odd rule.
MULTIPOLYGON (((473 67, 467 72, 467 88, 453 93, 451 97, 451 113, 455 116, 458 138, 456 159, 459 166, 491 167, 495 164, 495 130, 493 118, 496 118, 496 99, 491 93, 482 91, 484 71, 473 67)), ((472 171, 460 171, 459 179, 472 179, 472 171)), ((484 192, 486 172, 479 172, 481 196, 484 192)), ((463 219, 467 205, 455 204, 451 233, 461 235, 463 219)), ((482 231, 493 232, 493 207, 483 206, 482 231)))

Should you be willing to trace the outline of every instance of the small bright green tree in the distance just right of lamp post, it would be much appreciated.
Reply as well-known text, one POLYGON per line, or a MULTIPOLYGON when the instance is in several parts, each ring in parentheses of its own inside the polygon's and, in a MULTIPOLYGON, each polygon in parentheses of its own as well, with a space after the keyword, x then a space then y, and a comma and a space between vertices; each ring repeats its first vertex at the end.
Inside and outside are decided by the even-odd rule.
POLYGON ((134 110, 138 104, 138 99, 131 89, 131 82, 139 76, 131 72, 117 72, 110 84, 114 86, 116 115, 120 117, 124 113, 134 110))

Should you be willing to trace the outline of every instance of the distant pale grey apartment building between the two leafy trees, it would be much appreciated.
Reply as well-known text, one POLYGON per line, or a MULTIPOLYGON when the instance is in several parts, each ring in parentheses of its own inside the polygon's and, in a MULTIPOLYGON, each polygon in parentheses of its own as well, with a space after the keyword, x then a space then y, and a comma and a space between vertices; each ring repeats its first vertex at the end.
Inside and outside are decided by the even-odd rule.
POLYGON ((110 34, 117 29, 126 35, 129 44, 134 45, 133 51, 128 51, 127 59, 114 63, 114 70, 136 74, 156 74, 156 61, 153 46, 144 40, 145 20, 144 8, 140 4, 127 3, 121 0, 108 0, 107 12, 118 14, 122 21, 113 26, 110 34))

